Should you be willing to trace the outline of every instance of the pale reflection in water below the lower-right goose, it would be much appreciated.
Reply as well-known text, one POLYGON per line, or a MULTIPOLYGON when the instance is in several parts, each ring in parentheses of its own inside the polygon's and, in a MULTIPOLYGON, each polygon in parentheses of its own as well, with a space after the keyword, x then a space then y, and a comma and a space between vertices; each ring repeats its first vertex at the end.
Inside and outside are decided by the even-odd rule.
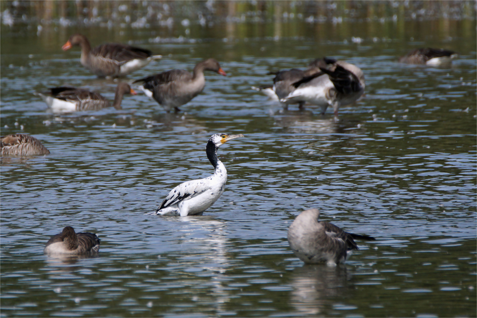
POLYGON ((348 293, 346 267, 305 265, 291 275, 290 304, 301 313, 317 316, 336 299, 348 293))

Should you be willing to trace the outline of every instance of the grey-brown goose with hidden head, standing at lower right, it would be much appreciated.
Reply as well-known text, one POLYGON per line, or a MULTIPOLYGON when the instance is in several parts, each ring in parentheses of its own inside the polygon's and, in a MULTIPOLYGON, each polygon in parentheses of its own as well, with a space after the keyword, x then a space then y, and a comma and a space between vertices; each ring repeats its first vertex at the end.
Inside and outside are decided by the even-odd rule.
POLYGON ((371 236, 344 232, 338 226, 319 221, 319 217, 318 209, 303 211, 288 229, 288 244, 305 263, 336 266, 343 263, 353 249, 358 249, 354 239, 375 240, 371 236))

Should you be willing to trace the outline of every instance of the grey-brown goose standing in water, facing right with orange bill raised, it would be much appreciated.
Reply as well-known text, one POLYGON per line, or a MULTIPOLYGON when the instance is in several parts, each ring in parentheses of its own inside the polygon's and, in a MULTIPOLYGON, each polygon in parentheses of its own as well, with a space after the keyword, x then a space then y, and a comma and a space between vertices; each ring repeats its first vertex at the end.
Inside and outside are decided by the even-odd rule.
POLYGON ((204 90, 206 86, 204 71, 227 76, 215 59, 207 59, 198 62, 192 73, 186 70, 171 70, 136 80, 133 83, 143 82, 144 84, 139 88, 164 107, 166 112, 170 112, 172 108, 178 112, 179 106, 190 102, 204 90))

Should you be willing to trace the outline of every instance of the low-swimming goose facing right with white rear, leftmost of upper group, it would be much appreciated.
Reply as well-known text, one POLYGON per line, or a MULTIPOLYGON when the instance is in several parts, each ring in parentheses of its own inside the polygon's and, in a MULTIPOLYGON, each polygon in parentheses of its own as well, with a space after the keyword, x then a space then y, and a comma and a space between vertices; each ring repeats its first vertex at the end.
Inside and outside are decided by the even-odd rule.
MULTIPOLYGON (((83 88, 53 87, 49 92, 36 93, 53 112, 97 111, 111 106, 106 98, 83 88)), ((136 95, 127 83, 119 83, 114 93, 113 107, 121 109, 124 94, 136 95)))

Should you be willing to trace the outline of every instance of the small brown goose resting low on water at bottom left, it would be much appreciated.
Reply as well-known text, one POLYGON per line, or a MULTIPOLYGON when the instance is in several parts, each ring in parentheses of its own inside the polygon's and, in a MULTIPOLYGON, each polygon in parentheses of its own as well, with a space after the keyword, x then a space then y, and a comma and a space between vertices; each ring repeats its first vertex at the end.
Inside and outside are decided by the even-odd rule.
POLYGON ((59 234, 46 242, 44 254, 87 254, 99 251, 100 239, 89 232, 75 233, 73 227, 65 226, 59 234))

